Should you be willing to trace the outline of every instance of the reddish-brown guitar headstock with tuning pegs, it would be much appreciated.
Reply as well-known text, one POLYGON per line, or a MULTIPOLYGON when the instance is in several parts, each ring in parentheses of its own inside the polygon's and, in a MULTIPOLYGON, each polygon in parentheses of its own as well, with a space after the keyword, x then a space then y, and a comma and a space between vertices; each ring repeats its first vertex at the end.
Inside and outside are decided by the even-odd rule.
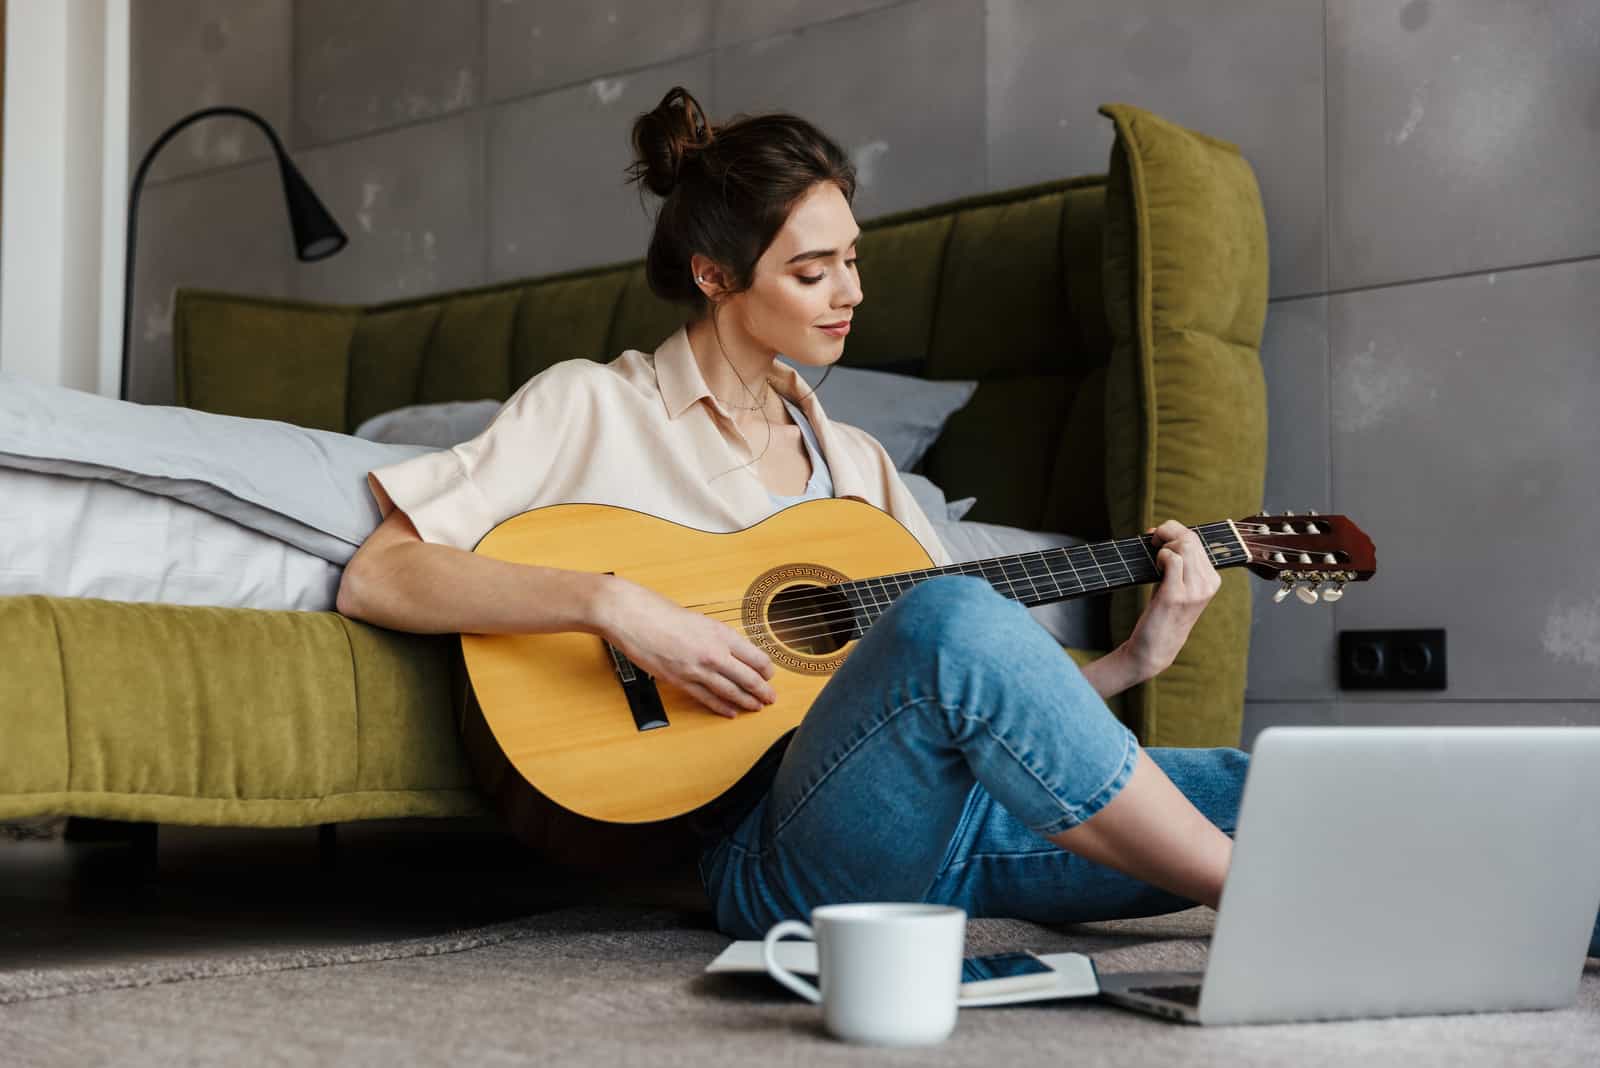
POLYGON ((1338 601, 1346 582, 1365 582, 1378 574, 1373 539, 1342 515, 1262 512, 1234 524, 1250 550, 1245 566, 1262 579, 1283 584, 1272 595, 1274 603, 1294 593, 1306 604, 1315 604, 1318 590, 1323 601, 1338 601))

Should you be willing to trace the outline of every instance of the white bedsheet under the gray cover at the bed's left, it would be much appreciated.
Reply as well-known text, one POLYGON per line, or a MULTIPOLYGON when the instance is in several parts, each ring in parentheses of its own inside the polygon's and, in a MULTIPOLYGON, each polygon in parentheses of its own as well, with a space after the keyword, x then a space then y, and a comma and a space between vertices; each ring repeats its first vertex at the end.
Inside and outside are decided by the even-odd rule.
POLYGON ((323 611, 341 572, 174 497, 0 467, 0 596, 323 611))

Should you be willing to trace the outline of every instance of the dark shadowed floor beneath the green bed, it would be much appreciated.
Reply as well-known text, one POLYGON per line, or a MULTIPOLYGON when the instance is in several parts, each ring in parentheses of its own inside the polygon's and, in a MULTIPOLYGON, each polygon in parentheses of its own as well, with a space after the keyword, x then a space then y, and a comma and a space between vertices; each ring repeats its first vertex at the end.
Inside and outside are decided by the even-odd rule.
POLYGON ((0 961, 93 967, 174 950, 408 938, 574 902, 693 895, 555 878, 490 820, 198 828, 74 823, 69 838, 0 838, 0 961))

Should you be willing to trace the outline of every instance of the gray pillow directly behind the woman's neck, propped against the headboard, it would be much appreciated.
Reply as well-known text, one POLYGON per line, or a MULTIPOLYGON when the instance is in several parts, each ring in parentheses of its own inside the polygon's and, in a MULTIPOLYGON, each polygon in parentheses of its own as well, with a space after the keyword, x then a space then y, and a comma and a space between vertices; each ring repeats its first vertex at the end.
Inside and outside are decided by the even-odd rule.
MULTIPOLYGON (((811 389, 816 389, 827 371, 782 360, 811 389)), ((909 472, 976 390, 978 382, 970 379, 933 381, 835 366, 816 398, 822 401, 829 419, 861 427, 883 443, 896 468, 909 472)))

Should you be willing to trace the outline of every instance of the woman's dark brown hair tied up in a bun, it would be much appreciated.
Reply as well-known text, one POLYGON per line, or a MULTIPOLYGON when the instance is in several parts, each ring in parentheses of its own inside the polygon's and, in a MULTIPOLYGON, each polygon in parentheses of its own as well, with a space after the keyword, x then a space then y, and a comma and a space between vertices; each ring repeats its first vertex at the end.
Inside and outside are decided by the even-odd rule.
POLYGON ((690 267, 694 253, 722 265, 728 293, 742 293, 813 185, 834 182, 846 203, 856 195, 850 157, 806 120, 773 112, 714 126, 682 85, 634 120, 632 142, 627 181, 662 198, 645 278, 656 296, 693 307, 696 317, 707 302, 690 267))

